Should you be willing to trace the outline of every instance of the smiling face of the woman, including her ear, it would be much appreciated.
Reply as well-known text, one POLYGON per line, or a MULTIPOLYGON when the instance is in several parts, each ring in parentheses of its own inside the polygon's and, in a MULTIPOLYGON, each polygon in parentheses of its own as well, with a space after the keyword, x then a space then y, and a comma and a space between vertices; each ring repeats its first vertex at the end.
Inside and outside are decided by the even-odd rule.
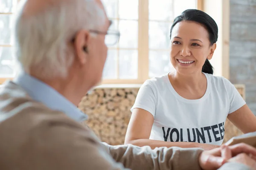
POLYGON ((170 60, 180 74, 201 72, 215 48, 216 43, 210 45, 207 29, 200 23, 182 21, 172 29, 170 60))

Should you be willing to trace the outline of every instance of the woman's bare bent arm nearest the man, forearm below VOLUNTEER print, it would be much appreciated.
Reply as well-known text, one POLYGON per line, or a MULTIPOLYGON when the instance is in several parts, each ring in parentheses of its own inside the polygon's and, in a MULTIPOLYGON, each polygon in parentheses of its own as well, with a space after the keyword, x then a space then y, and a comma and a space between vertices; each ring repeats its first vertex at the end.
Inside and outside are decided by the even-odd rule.
POLYGON ((154 117, 148 111, 140 108, 134 108, 131 119, 125 135, 125 144, 134 144, 137 146, 150 146, 152 149, 156 147, 200 147, 204 150, 210 150, 217 145, 200 144, 195 142, 164 142, 149 139, 151 128, 154 122, 154 117))

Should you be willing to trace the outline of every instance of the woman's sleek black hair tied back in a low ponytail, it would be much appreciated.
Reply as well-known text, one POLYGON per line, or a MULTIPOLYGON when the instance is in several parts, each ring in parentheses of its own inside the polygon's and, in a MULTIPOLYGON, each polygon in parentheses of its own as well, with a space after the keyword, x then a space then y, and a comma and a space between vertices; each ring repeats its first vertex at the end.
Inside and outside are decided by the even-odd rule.
MULTIPOLYGON (((205 26, 205 28, 208 31, 209 41, 210 41, 211 45, 213 45, 215 42, 217 42, 217 40, 218 40, 217 24, 212 19, 212 17, 210 17, 207 13, 197 10, 197 9, 187 9, 187 10, 183 11, 180 16, 177 16, 174 19, 174 22, 171 27, 170 38, 172 37, 173 27, 181 21, 194 21, 197 23, 201 23, 202 25, 205 26)), ((208 59, 206 59, 206 61, 204 63, 202 72, 208 73, 208 74, 213 74, 213 67, 210 64, 208 59)))

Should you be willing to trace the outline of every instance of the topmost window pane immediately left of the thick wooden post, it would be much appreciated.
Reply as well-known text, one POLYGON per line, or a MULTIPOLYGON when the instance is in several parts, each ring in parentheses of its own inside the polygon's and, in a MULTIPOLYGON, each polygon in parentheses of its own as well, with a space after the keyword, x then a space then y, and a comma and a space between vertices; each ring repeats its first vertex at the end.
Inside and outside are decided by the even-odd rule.
POLYGON ((139 0, 119 0, 119 18, 138 20, 139 0))

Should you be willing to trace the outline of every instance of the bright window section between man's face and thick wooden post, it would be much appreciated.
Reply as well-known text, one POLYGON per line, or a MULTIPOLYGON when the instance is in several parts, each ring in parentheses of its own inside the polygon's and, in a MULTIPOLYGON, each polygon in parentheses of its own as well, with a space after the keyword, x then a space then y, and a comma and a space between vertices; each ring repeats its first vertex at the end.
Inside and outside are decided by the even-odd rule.
POLYGON ((122 35, 116 46, 109 47, 104 79, 138 79, 139 0, 103 0, 111 29, 122 35))

